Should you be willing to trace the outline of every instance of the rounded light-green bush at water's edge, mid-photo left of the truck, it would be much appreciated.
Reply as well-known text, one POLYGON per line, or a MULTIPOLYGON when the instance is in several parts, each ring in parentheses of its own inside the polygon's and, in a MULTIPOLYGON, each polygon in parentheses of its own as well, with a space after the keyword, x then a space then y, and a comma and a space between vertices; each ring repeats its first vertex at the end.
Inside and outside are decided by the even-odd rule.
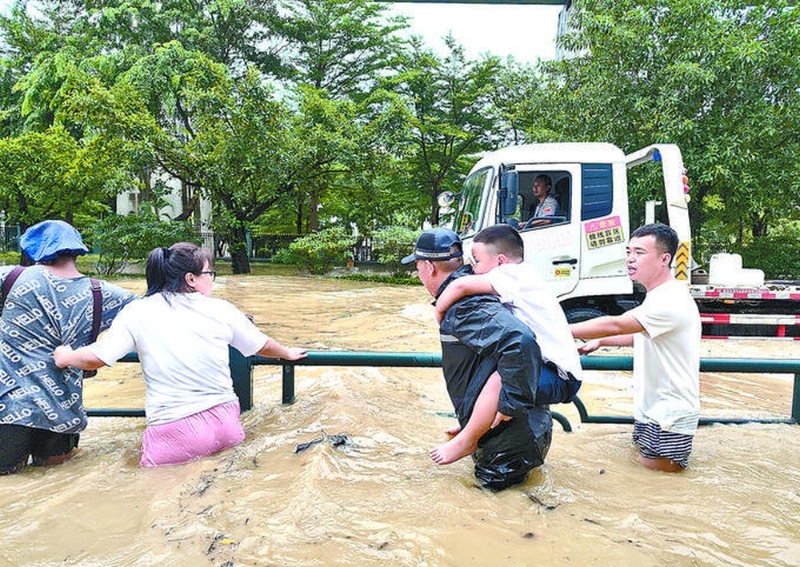
POLYGON ((279 250, 273 261, 294 264, 305 273, 324 274, 333 266, 344 264, 352 258, 355 242, 356 239, 342 227, 326 228, 298 238, 288 248, 279 250))

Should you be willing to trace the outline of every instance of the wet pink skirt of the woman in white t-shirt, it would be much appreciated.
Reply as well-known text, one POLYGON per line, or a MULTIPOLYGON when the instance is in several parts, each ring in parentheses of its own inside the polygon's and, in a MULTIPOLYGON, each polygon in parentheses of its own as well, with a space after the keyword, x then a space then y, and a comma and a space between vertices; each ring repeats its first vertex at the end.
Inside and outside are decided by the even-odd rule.
POLYGON ((239 413, 239 401, 235 400, 177 421, 147 426, 139 464, 176 465, 238 445, 244 440, 239 413))

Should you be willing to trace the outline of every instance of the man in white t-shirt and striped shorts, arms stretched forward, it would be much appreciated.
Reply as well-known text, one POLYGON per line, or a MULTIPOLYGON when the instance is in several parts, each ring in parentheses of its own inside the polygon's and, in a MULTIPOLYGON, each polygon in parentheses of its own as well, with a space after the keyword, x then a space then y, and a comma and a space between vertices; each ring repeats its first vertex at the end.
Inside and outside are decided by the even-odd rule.
POLYGON ((677 472, 689 464, 700 417, 700 335, 697 305, 670 269, 678 235, 664 224, 631 234, 628 275, 647 290, 644 302, 615 317, 571 326, 588 354, 601 346, 633 345, 634 431, 639 462, 677 472))

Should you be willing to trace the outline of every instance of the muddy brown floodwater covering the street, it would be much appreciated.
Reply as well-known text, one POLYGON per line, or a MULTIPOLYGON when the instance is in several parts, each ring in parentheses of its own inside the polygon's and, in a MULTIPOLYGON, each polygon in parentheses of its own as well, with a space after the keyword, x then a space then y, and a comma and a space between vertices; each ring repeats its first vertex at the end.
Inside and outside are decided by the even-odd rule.
MULTIPOLYGON (((121 285, 143 291, 141 280, 121 285)), ((421 286, 228 276, 215 295, 270 336, 311 350, 438 352, 421 286)), ((610 352, 610 354, 628 354, 610 352)), ((704 341, 703 356, 800 358, 800 341, 704 341), (706 344, 708 343, 708 344, 706 344)), ((798 566, 800 428, 714 425, 690 467, 636 462, 630 425, 554 424, 547 462, 501 493, 470 459, 428 450, 454 423, 440 369, 255 368, 242 445, 186 465, 138 466, 144 420, 90 419, 81 452, 0 477, 0 565, 798 566), (325 439, 295 453, 301 443, 325 439)), ((786 417, 792 376, 704 374, 704 416, 786 417)), ((630 415, 630 375, 588 372, 590 413, 630 415)), ((86 406, 143 407, 137 364, 87 380, 86 406)))

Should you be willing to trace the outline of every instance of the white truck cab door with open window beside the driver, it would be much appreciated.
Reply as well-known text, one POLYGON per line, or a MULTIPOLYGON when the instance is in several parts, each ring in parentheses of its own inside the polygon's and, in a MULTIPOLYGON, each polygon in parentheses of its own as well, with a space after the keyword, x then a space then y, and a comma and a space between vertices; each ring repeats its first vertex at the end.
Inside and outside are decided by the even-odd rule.
MULTIPOLYGON (((516 218, 525 242, 525 261, 534 264, 550 289, 557 295, 569 294, 578 284, 581 259, 581 169, 576 164, 517 165, 518 193, 516 218), (550 196, 558 203, 540 208, 534 182, 550 182, 550 196), (546 211, 543 209, 547 209, 546 211)), ((552 201, 550 201, 552 202, 552 201)))

